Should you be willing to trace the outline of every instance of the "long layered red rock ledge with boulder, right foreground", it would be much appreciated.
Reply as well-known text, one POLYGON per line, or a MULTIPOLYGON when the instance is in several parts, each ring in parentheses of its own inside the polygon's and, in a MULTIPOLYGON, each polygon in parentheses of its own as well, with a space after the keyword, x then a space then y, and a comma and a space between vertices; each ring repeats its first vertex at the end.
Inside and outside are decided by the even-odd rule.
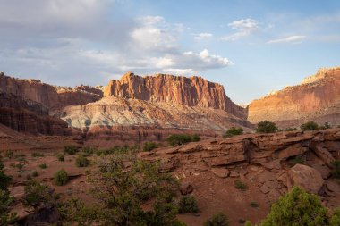
POLYGON ((270 200, 296 185, 338 205, 340 191, 332 188, 327 159, 319 157, 315 146, 322 146, 325 155, 339 160, 340 149, 336 146, 340 146, 340 129, 211 138, 184 146, 160 147, 139 156, 148 161, 159 160, 163 170, 178 177, 211 172, 218 179, 240 178, 270 200), (323 178, 325 168, 328 176, 323 178), (326 189, 328 183, 330 188, 326 189))

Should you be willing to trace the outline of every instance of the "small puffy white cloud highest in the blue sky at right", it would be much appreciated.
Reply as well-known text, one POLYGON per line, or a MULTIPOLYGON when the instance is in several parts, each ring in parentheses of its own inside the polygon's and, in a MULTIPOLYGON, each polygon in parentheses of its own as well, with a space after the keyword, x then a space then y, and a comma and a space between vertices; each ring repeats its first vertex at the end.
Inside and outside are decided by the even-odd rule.
POLYGON ((252 33, 254 33, 256 30, 259 29, 259 21, 253 20, 253 19, 242 19, 239 21, 233 21, 228 24, 228 27, 230 27, 233 30, 236 30, 234 34, 227 35, 225 37, 222 37, 221 40, 223 41, 235 41, 240 38, 245 38, 250 36, 252 33))

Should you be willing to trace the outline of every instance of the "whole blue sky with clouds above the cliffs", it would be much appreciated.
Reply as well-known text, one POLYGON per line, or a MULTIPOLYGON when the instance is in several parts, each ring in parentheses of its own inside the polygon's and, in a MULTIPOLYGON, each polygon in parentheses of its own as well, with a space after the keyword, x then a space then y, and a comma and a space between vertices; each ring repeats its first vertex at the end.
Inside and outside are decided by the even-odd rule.
POLYGON ((53 85, 199 75, 248 104, 339 51, 338 0, 0 0, 0 71, 53 85))

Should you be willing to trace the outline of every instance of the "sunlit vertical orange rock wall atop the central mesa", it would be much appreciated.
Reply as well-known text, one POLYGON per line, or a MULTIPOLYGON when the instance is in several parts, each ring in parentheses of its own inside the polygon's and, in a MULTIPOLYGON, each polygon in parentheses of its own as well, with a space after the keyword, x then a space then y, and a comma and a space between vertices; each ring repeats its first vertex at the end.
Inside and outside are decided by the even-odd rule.
POLYGON ((210 107, 245 118, 244 109, 225 96, 223 86, 196 76, 187 78, 157 74, 140 77, 128 72, 121 80, 111 80, 104 90, 104 96, 210 107))

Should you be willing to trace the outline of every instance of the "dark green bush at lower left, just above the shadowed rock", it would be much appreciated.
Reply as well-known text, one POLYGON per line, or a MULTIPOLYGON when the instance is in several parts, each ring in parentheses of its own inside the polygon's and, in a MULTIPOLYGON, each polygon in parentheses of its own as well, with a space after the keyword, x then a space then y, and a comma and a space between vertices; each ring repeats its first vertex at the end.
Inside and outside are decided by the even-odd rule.
POLYGON ((26 184, 24 192, 23 205, 33 207, 35 210, 47 203, 52 203, 53 197, 47 186, 36 180, 30 180, 26 184))

